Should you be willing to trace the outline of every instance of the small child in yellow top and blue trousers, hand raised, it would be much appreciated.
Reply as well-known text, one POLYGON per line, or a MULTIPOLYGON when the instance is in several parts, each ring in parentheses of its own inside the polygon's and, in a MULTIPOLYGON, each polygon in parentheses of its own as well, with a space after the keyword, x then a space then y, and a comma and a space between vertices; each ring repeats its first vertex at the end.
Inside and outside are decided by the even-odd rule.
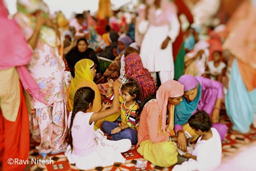
MULTIPOLYGON (((107 98, 112 98, 113 80, 109 81, 107 98)), ((137 123, 138 115, 136 110, 138 104, 136 100, 140 97, 139 86, 137 83, 128 82, 121 88, 122 95, 119 96, 121 105, 121 123, 103 121, 102 128, 107 135, 112 135, 112 140, 130 139, 132 144, 137 144, 137 123)))

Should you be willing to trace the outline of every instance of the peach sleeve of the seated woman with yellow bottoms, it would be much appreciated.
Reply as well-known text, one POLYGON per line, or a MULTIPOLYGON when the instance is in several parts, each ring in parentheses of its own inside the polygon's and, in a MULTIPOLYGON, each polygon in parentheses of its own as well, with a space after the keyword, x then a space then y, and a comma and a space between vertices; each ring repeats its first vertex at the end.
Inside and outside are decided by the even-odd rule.
POLYGON ((158 134, 160 110, 157 103, 148 104, 146 110, 149 112, 147 117, 147 123, 149 127, 149 140, 153 143, 169 141, 169 136, 158 134))

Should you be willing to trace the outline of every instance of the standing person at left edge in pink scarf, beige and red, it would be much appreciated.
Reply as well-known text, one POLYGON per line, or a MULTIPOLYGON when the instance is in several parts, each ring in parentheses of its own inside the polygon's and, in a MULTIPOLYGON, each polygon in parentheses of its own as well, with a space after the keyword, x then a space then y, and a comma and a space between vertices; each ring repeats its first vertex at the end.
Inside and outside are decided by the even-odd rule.
POLYGON ((8 159, 27 160, 30 150, 30 133, 26 93, 45 103, 26 65, 32 50, 24 33, 0 0, 0 170, 24 171, 26 165, 8 164, 8 159))

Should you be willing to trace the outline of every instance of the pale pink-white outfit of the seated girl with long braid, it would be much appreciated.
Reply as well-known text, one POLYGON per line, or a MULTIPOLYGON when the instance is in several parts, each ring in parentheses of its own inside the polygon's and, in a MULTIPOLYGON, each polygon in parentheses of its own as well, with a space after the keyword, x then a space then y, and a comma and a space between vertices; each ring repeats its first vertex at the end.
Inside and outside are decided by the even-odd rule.
MULTIPOLYGON (((130 140, 110 141, 101 130, 94 131, 94 122, 89 125, 93 113, 78 112, 75 114, 71 128, 73 150, 69 146, 65 152, 69 162, 82 170, 89 170, 97 166, 110 166, 114 162, 124 163, 126 159, 121 153, 130 149, 130 140)), ((69 128, 71 115, 72 113, 69 114, 69 128)))

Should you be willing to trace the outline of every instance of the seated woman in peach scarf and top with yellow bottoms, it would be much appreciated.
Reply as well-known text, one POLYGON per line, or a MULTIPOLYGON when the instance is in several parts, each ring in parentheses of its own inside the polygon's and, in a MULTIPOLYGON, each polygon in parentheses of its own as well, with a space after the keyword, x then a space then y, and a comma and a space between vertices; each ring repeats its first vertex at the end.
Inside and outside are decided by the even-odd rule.
POLYGON ((183 93, 183 85, 169 80, 159 87, 156 98, 145 100, 141 107, 137 152, 157 166, 178 162, 178 152, 169 136, 174 136, 174 106, 181 103, 183 93))

